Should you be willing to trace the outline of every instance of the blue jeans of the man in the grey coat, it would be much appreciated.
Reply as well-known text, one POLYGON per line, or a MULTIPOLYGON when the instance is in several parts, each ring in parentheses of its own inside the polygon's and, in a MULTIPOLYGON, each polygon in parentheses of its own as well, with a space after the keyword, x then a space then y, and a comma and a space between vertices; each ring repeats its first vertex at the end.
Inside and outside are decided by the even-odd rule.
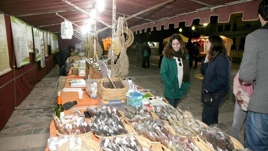
POLYGON ((245 146, 252 151, 268 151, 268 114, 248 111, 245 146))

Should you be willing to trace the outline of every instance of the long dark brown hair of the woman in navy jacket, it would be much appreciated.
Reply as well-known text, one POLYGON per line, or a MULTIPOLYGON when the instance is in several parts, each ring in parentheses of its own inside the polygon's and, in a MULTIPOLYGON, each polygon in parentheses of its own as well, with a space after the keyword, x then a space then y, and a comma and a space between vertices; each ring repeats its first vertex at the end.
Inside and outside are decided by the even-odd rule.
POLYGON ((224 45, 224 41, 220 36, 209 36, 208 40, 211 43, 211 47, 209 50, 210 61, 214 61, 219 56, 219 54, 223 54, 228 59, 230 59, 230 61, 232 60, 231 57, 228 55, 227 49, 224 45))

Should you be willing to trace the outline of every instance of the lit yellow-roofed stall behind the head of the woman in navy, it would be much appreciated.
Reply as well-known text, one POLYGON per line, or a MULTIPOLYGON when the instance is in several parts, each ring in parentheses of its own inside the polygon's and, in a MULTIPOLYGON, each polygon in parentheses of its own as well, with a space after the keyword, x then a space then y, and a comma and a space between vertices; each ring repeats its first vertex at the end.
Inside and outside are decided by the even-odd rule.
MULTIPOLYGON (((202 36, 202 37, 199 37, 199 38, 193 38, 192 39, 192 42, 197 42, 200 45, 200 56, 202 56, 202 57, 205 57, 206 54, 208 53, 206 51, 206 45, 205 45, 206 39, 208 37, 209 36, 202 36)), ((227 38, 225 36, 220 36, 220 37, 224 41, 225 47, 226 47, 226 49, 228 51, 228 54, 230 54, 230 52, 231 52, 231 46, 233 45, 233 40, 230 39, 230 38, 227 38)))

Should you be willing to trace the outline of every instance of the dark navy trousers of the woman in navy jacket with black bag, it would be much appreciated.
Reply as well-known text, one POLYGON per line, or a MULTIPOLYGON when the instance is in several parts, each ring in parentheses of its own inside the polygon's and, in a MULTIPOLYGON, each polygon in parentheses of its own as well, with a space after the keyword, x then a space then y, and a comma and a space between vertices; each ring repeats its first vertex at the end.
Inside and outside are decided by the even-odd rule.
POLYGON ((202 120, 208 126, 211 124, 218 124, 219 106, 225 95, 220 95, 212 106, 204 104, 202 112, 202 120))

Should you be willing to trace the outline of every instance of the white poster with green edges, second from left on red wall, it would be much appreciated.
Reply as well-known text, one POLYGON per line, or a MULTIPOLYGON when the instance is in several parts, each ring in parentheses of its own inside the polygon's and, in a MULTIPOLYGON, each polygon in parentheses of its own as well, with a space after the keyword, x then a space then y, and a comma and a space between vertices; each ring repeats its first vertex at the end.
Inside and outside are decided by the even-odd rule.
POLYGON ((10 16, 17 67, 30 63, 26 23, 10 16))

